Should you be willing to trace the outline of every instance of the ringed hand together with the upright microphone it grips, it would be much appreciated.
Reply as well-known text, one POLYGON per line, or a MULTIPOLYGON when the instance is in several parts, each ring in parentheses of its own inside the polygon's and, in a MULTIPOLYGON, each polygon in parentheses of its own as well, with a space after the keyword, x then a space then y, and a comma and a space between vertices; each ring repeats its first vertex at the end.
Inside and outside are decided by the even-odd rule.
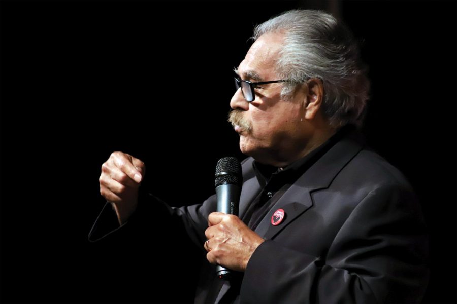
POLYGON ((236 158, 222 158, 216 167, 217 212, 208 217, 205 231, 207 259, 217 264, 216 275, 230 276, 230 270, 244 271, 255 249, 264 242, 238 218, 241 193, 241 165, 236 158))

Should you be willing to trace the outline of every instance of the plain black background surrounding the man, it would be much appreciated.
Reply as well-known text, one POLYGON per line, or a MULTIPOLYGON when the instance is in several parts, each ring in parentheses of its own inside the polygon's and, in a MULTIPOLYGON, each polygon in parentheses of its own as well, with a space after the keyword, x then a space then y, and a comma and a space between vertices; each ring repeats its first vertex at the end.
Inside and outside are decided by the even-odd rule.
MULTIPOLYGON (((340 4, 370 66, 364 132, 411 181, 429 226, 425 302, 455 302, 456 4, 340 4)), ((254 24, 298 7, 306 2, 2 1, 0 300, 191 297, 186 248, 151 236, 141 246, 156 254, 142 264, 141 246, 87 241, 104 205, 100 167, 125 151, 171 205, 211 195, 217 160, 243 158, 225 122, 231 69, 254 24)))

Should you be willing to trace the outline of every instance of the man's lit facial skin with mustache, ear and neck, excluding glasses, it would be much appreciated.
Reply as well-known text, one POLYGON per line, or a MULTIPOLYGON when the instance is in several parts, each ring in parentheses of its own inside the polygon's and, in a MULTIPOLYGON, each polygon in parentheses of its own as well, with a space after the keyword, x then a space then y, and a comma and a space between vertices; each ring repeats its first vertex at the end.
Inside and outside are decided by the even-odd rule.
MULTIPOLYGON (((284 37, 280 34, 259 37, 235 71, 240 75, 256 71, 265 81, 278 79, 275 62, 283 43, 284 37)), ((321 81, 308 80, 307 85, 296 87, 288 99, 281 97, 282 88, 283 83, 257 88, 255 99, 249 103, 241 90, 237 90, 231 100, 234 111, 229 116, 233 125, 241 127, 238 132, 242 153, 277 166, 305 156, 322 138, 334 133, 318 113, 323 97, 321 81), (316 99, 316 96, 319 97, 316 99)))

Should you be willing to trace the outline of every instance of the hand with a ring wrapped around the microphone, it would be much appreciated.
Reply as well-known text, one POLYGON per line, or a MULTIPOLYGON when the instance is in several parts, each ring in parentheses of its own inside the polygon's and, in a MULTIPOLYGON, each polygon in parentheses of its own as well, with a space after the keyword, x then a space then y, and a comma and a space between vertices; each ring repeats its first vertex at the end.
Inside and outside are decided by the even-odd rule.
POLYGON ((235 215, 213 212, 208 216, 206 258, 235 271, 245 271, 255 249, 265 242, 235 215))

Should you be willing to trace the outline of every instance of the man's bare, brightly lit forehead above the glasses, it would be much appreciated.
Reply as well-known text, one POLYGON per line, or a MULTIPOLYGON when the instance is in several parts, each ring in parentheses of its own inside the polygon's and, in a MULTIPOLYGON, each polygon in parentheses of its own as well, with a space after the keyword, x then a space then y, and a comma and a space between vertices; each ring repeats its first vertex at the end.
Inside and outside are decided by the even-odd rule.
POLYGON ((244 60, 238 67, 238 73, 243 78, 253 79, 257 75, 257 81, 270 80, 275 76, 276 61, 283 43, 283 35, 280 33, 268 33, 260 36, 251 46, 244 60))

